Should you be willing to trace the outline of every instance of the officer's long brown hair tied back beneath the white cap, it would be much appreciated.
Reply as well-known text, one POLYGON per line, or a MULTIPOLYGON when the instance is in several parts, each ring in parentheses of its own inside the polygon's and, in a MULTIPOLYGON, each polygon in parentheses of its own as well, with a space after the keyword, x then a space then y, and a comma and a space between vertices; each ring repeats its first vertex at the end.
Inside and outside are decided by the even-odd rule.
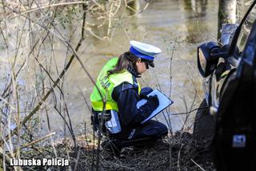
POLYGON ((138 58, 131 54, 129 51, 121 54, 118 58, 118 63, 114 66, 114 69, 109 70, 107 75, 122 73, 124 70, 127 70, 129 67, 133 67, 134 70, 137 70, 136 62, 138 58))

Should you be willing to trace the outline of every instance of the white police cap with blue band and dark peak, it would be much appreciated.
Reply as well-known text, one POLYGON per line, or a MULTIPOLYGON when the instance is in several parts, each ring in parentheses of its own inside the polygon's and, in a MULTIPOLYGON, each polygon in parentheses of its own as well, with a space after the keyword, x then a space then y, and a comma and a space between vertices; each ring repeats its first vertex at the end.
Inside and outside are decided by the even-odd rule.
POLYGON ((137 41, 130 41, 130 52, 138 58, 146 59, 153 63, 154 57, 162 51, 156 46, 137 41))

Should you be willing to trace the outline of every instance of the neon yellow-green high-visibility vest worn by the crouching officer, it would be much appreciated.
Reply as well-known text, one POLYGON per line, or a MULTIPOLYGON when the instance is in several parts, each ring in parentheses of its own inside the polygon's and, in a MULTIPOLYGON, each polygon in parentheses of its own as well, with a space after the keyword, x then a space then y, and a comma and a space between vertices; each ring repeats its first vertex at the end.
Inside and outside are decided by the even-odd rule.
MULTIPOLYGON (((111 74, 107 77, 107 71, 112 70, 117 62, 118 58, 110 59, 98 74, 96 82, 99 91, 102 93, 103 99, 106 101, 106 110, 114 109, 118 111, 118 104, 112 98, 112 92, 116 86, 122 84, 122 82, 129 82, 131 85, 134 85, 133 76, 127 70, 124 70, 122 73, 111 74)), ((103 102, 100 93, 98 93, 98 89, 94 86, 93 93, 90 94, 90 101, 95 111, 102 111, 103 102)), ((141 87, 138 84, 138 93, 140 93, 140 90, 141 87)))

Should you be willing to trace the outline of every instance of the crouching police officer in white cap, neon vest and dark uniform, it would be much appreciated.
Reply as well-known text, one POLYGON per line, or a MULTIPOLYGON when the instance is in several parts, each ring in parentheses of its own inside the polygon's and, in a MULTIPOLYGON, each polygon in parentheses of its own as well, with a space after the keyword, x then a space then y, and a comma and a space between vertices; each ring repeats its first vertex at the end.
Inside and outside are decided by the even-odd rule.
POLYGON ((102 146, 117 156, 123 147, 142 148, 168 133, 166 125, 159 121, 141 124, 158 107, 157 96, 148 97, 146 104, 139 109, 136 106, 152 91, 149 87, 141 89, 136 78, 140 78, 149 66, 154 67, 154 57, 159 53, 158 47, 131 41, 128 52, 110 59, 103 66, 96 82, 98 89, 94 86, 90 94, 94 130, 99 128, 99 118, 104 118, 100 130, 109 135, 109 141, 102 142, 102 146), (102 97, 106 100, 105 109, 102 97))

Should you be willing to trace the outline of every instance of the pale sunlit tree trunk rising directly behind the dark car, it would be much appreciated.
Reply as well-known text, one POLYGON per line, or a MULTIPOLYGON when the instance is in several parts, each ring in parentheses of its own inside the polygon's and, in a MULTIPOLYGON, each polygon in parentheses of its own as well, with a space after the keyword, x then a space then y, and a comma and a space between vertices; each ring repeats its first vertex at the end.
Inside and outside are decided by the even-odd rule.
POLYGON ((222 24, 236 22, 236 5, 237 0, 219 0, 218 5, 218 39, 220 38, 220 30, 222 24))

